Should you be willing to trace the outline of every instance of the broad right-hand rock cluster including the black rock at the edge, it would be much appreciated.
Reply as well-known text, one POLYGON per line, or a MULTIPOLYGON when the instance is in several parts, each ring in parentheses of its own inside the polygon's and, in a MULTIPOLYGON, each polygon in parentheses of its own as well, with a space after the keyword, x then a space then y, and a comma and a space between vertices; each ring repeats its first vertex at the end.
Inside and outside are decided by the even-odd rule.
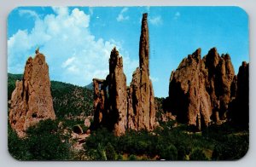
POLYGON ((211 123, 248 127, 248 64, 235 75, 230 55, 212 48, 201 59, 201 49, 188 55, 173 71, 169 84, 169 111, 198 130, 211 123))

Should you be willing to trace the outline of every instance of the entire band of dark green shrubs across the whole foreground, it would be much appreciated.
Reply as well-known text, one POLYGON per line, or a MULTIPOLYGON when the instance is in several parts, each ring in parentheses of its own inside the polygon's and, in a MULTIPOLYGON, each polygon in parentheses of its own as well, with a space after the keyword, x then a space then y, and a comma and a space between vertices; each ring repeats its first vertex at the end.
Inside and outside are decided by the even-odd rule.
POLYGON ((63 135, 59 122, 41 121, 23 139, 9 127, 9 153, 20 160, 233 160, 242 158, 249 146, 248 131, 230 124, 193 132, 185 124, 173 126, 176 123, 169 121, 152 132, 130 130, 119 137, 104 128, 92 131, 84 151, 74 152, 70 134, 63 135))

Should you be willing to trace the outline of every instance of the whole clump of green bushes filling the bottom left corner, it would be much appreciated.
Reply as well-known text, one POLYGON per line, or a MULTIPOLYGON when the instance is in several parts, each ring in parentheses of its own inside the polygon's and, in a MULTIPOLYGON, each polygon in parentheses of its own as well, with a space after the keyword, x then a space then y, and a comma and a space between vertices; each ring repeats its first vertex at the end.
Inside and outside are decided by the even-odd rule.
POLYGON ((70 158, 68 138, 61 135, 55 121, 40 121, 19 138, 9 127, 9 153, 19 160, 67 160, 70 158))

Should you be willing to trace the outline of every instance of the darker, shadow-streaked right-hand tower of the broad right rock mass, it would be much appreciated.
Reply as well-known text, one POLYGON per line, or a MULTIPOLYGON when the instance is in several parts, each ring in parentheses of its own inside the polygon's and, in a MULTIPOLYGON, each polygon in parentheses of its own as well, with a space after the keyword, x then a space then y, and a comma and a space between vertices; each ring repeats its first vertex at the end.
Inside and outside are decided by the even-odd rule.
POLYGON ((217 49, 211 49, 205 57, 205 67, 208 72, 207 92, 211 96, 212 111, 218 115, 215 120, 226 119, 231 98, 231 84, 235 71, 230 55, 219 56, 217 49))

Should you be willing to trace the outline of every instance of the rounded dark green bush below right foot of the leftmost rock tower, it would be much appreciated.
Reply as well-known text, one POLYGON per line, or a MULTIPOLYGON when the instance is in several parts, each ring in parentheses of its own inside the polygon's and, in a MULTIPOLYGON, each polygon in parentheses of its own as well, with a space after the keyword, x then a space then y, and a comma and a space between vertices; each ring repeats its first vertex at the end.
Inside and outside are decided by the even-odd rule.
POLYGON ((50 119, 30 127, 26 134, 28 152, 32 160, 67 160, 69 145, 58 133, 57 124, 50 119))

